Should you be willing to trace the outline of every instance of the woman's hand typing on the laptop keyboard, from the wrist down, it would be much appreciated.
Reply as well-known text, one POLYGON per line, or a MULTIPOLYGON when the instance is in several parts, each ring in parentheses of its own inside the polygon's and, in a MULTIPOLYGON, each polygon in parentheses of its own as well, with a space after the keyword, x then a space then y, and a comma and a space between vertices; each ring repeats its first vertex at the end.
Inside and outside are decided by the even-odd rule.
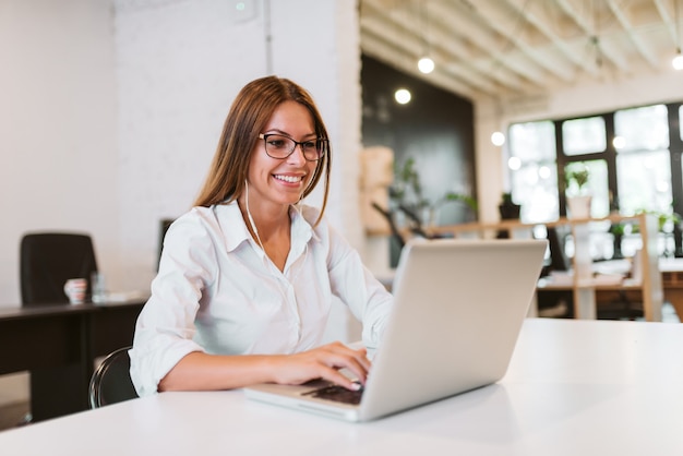
POLYGON ((339 370, 348 370, 357 382, 364 385, 371 367, 367 355, 364 348, 354 350, 336 341, 300 353, 276 357, 273 375, 276 383, 299 385, 323 379, 348 389, 358 389, 358 383, 339 370))

